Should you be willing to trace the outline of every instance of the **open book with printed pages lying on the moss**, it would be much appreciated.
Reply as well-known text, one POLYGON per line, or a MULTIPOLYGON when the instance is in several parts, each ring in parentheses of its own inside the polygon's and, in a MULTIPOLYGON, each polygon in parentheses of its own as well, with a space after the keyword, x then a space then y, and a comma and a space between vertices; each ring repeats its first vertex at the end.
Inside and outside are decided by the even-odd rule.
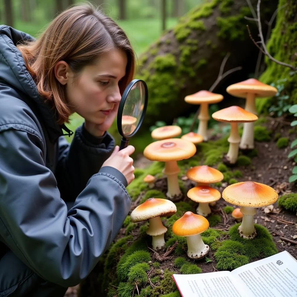
POLYGON ((297 260, 287 251, 233 271, 173 274, 183 297, 297 297, 297 260))

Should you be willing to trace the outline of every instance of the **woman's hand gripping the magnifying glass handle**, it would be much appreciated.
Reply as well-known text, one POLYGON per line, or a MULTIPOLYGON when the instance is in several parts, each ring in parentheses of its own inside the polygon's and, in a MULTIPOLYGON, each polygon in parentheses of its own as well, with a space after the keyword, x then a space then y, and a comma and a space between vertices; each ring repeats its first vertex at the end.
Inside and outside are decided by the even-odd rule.
POLYGON ((119 146, 116 146, 110 157, 102 164, 103 166, 111 166, 121 171, 127 179, 128 185, 135 178, 133 159, 129 157, 135 151, 134 146, 127 146, 119 151, 119 146))

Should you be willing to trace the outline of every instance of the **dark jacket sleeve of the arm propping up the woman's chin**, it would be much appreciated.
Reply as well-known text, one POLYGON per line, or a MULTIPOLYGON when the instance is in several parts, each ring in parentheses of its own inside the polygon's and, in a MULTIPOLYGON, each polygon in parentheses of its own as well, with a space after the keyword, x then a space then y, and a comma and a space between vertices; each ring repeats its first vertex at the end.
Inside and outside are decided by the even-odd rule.
MULTIPOLYGON (((114 139, 108 132, 101 138, 95 138, 83 125, 76 129, 71 145, 63 136, 59 138, 55 176, 65 201, 76 199, 89 178, 100 170, 103 162, 111 155, 114 145, 114 139)), ((124 175, 116 171, 117 178, 127 186, 124 175)))

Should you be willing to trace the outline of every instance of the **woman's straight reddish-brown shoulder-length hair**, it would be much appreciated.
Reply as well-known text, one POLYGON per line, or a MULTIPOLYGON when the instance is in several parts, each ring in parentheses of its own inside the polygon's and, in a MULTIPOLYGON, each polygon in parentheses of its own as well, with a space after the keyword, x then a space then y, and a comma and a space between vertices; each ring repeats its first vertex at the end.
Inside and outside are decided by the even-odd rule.
POLYGON ((133 79, 135 53, 124 31, 91 4, 71 7, 58 15, 36 41, 18 45, 38 93, 51 103, 60 124, 69 122, 64 86, 54 74, 58 61, 65 61, 79 74, 83 67, 111 49, 127 54, 126 75, 120 81, 121 94, 133 79))

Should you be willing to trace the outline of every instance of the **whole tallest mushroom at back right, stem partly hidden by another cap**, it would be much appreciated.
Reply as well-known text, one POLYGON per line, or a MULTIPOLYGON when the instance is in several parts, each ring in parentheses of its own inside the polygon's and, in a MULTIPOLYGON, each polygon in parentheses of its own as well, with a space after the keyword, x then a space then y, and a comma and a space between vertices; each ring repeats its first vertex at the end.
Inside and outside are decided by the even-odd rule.
MULTIPOLYGON (((233 96, 246 98, 245 110, 257 114, 256 110, 256 98, 270 97, 277 94, 277 89, 261 83, 255 78, 241 81, 240 83, 234 83, 228 86, 227 92, 233 96)), ((254 148, 254 123, 244 123, 243 132, 239 147, 241 149, 253 149, 254 148)))

